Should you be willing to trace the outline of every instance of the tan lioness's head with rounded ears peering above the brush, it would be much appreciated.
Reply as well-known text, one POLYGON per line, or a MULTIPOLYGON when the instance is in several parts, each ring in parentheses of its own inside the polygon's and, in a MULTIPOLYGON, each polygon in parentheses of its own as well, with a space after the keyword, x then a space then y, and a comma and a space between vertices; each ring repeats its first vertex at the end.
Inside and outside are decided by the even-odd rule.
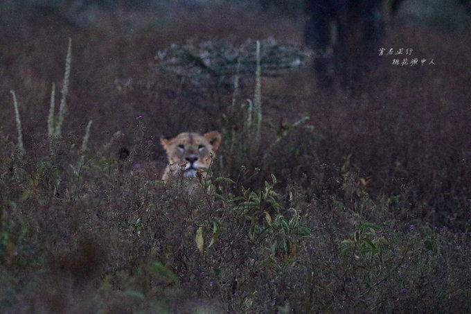
POLYGON ((184 132, 173 139, 161 139, 161 143, 169 163, 162 177, 164 181, 175 176, 196 177, 197 171, 211 164, 221 143, 221 134, 216 131, 204 135, 184 132))

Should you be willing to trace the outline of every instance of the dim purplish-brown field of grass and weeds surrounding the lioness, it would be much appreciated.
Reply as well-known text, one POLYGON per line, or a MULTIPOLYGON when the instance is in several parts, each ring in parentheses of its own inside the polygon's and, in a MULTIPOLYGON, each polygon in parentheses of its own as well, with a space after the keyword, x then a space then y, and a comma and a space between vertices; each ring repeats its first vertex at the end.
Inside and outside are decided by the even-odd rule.
POLYGON ((368 89, 331 94, 308 64, 264 65, 270 44, 305 53, 294 12, 14 3, 0 4, 1 313, 471 311, 471 26, 396 24, 382 46, 427 62, 378 55, 368 89), (245 72, 178 63, 241 46, 245 72), (188 198, 160 180, 159 138, 208 130, 222 146, 188 198))

